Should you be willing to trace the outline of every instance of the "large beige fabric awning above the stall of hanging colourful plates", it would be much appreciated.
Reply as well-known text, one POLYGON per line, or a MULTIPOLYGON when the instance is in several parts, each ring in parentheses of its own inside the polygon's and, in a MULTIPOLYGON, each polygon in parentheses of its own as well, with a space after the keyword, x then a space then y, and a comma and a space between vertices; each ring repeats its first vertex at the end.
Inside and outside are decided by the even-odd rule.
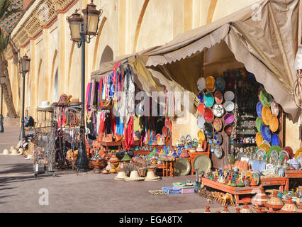
POLYGON ((177 36, 150 53, 147 67, 160 69, 165 77, 171 74, 175 82, 196 93, 200 74, 194 69, 194 61, 203 50, 224 41, 236 60, 245 64, 246 69, 255 74, 257 82, 295 118, 298 107, 294 104, 292 89, 296 79, 293 66, 298 48, 300 0, 262 0, 258 4, 258 10, 248 6, 177 36), (178 73, 183 72, 183 61, 190 62, 190 57, 189 76, 178 73))

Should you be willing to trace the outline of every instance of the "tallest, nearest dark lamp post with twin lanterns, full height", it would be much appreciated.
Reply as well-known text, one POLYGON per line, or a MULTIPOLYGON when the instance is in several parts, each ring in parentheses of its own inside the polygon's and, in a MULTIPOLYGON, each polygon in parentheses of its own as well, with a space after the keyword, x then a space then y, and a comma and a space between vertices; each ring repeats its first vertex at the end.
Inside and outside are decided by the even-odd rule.
MULTIPOLYGON (((77 43, 77 47, 82 47, 82 118, 84 119, 85 106, 85 43, 90 43, 91 38, 97 35, 99 29, 99 18, 103 10, 97 10, 94 1, 82 10, 84 16, 78 13, 78 10, 67 17, 69 23, 71 40, 77 43)), ((79 141, 79 153, 77 155, 77 170, 84 172, 88 170, 88 158, 86 154, 85 138, 85 121, 82 121, 80 128, 81 140, 79 141)))

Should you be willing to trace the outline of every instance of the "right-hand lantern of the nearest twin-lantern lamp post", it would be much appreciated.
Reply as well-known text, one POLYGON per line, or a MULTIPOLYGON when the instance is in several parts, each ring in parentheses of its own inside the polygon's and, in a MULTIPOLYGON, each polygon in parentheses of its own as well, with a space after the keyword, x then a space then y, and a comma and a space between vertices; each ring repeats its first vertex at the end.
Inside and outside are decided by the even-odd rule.
POLYGON ((97 10, 94 1, 86 6, 86 9, 82 10, 84 14, 84 34, 94 36, 98 32, 99 28, 99 18, 103 11, 97 10))

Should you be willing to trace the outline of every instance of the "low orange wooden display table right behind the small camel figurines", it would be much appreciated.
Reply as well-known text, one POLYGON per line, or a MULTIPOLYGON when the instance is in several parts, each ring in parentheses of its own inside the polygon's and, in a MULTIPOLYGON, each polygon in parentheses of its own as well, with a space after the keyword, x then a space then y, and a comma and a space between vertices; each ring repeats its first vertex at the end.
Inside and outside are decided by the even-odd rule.
POLYGON ((205 186, 211 187, 213 189, 218 189, 223 192, 228 192, 230 194, 233 194, 235 196, 235 202, 237 205, 243 204, 244 202, 251 203, 252 196, 245 196, 244 199, 240 199, 239 196, 247 195, 247 194, 256 194, 259 186, 252 186, 252 187, 232 187, 228 186, 226 184, 222 184, 219 182, 214 182, 211 179, 206 179, 204 177, 201 177, 201 183, 205 186))

